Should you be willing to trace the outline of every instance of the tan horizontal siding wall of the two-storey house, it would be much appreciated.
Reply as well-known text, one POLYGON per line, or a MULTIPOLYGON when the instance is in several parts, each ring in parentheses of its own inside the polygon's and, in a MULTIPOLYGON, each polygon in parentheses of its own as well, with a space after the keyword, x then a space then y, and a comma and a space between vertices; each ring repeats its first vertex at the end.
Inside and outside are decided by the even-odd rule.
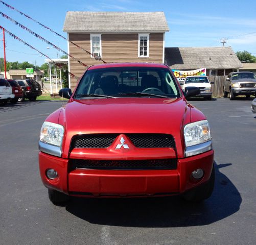
MULTIPOLYGON (((85 50, 90 51, 90 34, 76 34, 69 33, 69 40, 75 42, 85 50)), ((162 49, 163 49, 163 33, 152 33, 149 36, 149 58, 138 58, 138 34, 102 34, 102 59, 107 63, 115 62, 154 62, 162 63, 162 49)), ((102 61, 97 61, 90 58, 80 48, 73 44, 69 45, 69 54, 76 57, 88 66, 95 64, 103 64, 102 61)), ((70 71, 81 77, 86 70, 86 67, 80 65, 76 60, 69 58, 70 71)), ((76 79, 71 78, 71 88, 75 88, 77 84, 76 79)))

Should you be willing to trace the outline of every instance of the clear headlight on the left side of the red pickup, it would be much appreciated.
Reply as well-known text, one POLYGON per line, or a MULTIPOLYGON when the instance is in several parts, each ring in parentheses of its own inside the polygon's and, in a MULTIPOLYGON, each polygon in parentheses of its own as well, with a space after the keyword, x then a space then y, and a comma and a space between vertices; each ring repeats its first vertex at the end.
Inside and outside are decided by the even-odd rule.
POLYGON ((40 141, 46 144, 56 145, 60 148, 63 134, 63 126, 54 124, 53 122, 45 121, 43 122, 41 128, 40 141))

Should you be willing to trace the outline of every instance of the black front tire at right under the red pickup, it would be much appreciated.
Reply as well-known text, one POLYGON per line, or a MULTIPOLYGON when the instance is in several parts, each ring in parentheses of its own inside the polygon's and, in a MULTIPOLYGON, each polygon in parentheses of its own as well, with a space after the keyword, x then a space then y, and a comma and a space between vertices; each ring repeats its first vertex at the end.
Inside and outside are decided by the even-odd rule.
POLYGON ((182 195, 182 198, 189 202, 202 202, 203 200, 210 198, 215 182, 215 169, 213 165, 212 174, 207 183, 196 187, 195 189, 189 190, 182 195))

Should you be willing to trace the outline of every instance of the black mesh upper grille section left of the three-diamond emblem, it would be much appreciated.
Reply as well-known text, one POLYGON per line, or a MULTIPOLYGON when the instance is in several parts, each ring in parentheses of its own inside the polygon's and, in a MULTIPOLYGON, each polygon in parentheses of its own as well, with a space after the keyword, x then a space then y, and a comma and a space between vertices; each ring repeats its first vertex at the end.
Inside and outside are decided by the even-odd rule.
POLYGON ((118 134, 83 134, 74 137, 72 148, 108 148, 118 134))

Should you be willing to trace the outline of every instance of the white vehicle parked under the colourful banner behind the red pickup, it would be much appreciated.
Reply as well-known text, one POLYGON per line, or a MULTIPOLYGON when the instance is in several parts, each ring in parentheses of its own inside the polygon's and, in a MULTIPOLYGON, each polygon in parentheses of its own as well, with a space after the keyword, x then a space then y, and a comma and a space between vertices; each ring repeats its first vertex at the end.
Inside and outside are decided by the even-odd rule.
POLYGON ((206 100, 212 100, 212 85, 206 76, 188 76, 185 78, 184 82, 180 83, 183 91, 189 86, 195 86, 200 89, 200 94, 197 96, 202 96, 206 100))

